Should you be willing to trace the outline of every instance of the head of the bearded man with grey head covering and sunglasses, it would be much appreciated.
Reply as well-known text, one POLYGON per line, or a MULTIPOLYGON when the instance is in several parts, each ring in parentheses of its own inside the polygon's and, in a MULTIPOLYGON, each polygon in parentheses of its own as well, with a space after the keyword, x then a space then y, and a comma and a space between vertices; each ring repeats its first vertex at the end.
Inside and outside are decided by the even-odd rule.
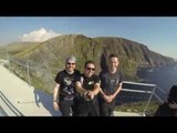
POLYGON ((70 73, 74 72, 76 58, 71 55, 65 60, 65 70, 70 73))

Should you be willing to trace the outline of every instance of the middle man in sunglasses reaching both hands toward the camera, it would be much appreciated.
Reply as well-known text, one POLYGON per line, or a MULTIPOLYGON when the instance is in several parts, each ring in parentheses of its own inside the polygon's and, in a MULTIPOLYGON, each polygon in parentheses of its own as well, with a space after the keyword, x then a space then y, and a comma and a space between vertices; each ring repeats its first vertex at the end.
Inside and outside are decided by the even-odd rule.
POLYGON ((100 92, 100 78, 95 73, 95 62, 85 62, 84 73, 76 80, 75 86, 81 94, 79 116, 98 116, 97 93, 100 92))

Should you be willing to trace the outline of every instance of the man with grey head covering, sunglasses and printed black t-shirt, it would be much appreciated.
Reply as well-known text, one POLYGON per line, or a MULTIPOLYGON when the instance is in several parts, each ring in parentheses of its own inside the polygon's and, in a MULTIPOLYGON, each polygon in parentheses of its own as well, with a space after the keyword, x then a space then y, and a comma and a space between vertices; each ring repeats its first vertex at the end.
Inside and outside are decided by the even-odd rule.
POLYGON ((80 76, 80 71, 75 70, 75 57, 69 57, 65 61, 65 69, 55 76, 53 89, 53 108, 61 111, 62 116, 76 115, 77 104, 75 102, 75 80, 80 76), (59 96, 59 100, 58 100, 59 96), (72 111, 71 111, 72 109, 72 111))

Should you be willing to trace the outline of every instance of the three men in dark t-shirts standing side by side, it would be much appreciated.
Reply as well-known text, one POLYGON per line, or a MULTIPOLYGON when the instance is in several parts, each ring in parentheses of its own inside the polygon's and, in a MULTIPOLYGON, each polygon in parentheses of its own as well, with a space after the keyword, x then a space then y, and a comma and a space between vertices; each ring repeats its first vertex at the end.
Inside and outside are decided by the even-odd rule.
POLYGON ((95 62, 86 61, 84 73, 75 69, 76 59, 70 57, 65 69, 55 78, 53 108, 63 116, 112 116, 115 98, 122 89, 123 80, 118 70, 118 57, 108 57, 108 69, 95 74, 95 62), (59 98, 59 99, 58 99, 59 98))

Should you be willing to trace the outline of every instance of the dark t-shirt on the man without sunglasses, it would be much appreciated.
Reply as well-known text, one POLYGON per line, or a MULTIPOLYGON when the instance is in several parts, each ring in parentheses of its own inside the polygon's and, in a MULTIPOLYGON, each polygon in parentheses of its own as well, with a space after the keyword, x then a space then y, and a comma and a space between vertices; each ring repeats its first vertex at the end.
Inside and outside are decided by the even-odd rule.
POLYGON ((118 84, 123 82, 122 74, 119 71, 115 73, 110 73, 108 71, 102 71, 100 73, 101 78, 101 88, 105 94, 115 93, 118 84))

